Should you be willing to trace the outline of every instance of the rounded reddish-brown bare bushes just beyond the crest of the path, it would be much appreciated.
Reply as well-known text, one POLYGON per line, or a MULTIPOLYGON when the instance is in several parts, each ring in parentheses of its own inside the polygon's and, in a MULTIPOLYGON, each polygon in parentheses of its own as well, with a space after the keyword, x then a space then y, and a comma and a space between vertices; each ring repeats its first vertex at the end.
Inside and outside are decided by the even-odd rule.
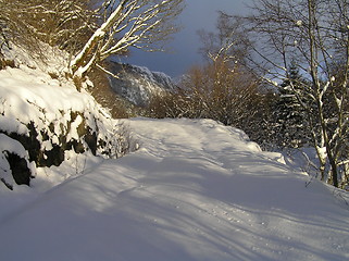
POLYGON ((192 67, 174 92, 154 97, 149 111, 158 117, 212 119, 250 135, 253 121, 265 112, 260 90, 260 82, 244 67, 214 59, 192 67))

